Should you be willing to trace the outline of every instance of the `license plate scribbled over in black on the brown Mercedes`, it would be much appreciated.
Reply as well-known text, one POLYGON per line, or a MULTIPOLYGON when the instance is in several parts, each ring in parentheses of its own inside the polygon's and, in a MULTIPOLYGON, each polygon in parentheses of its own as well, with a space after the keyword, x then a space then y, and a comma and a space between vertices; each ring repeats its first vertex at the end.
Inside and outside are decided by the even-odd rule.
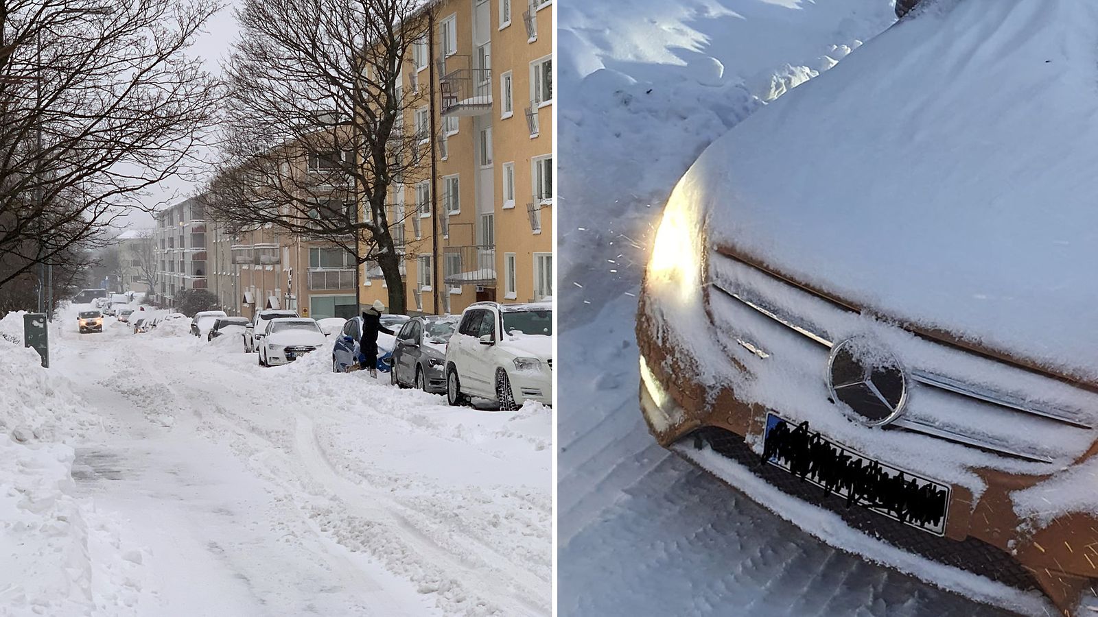
POLYGON ((763 460, 877 514, 945 535, 950 486, 884 464, 808 428, 766 414, 763 460))

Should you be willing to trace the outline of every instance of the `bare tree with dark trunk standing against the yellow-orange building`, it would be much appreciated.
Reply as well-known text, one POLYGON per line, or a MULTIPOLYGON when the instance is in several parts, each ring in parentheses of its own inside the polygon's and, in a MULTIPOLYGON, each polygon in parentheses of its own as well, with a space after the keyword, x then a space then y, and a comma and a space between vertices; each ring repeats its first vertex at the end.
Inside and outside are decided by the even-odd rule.
MULTIPOLYGON (((203 197, 244 229, 271 223, 380 267, 392 312, 405 312, 401 253, 414 203, 395 199, 429 177, 433 114, 413 55, 434 70, 433 18, 423 0, 245 0, 240 41, 225 67, 224 158, 203 197), (414 49, 414 52, 413 52, 414 49), (414 128, 414 130, 412 130, 414 128)), ((432 218, 432 221, 434 221, 432 218)), ((428 224, 434 225, 433 222, 428 224)), ((406 253, 411 254, 411 253, 406 253)))

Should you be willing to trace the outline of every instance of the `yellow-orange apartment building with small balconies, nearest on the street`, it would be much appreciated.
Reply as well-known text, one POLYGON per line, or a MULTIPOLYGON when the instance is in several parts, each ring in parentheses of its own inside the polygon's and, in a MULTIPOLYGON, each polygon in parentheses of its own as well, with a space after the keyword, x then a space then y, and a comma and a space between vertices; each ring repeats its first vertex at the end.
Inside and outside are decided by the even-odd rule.
MULTIPOLYGON (((435 171, 390 198, 404 221, 394 235, 408 312, 549 298, 552 2, 441 0, 433 11, 432 41, 413 43, 401 87, 434 89, 434 113, 425 100, 404 121, 436 139, 435 171)), ((380 269, 360 280, 363 305, 389 304, 380 269)))

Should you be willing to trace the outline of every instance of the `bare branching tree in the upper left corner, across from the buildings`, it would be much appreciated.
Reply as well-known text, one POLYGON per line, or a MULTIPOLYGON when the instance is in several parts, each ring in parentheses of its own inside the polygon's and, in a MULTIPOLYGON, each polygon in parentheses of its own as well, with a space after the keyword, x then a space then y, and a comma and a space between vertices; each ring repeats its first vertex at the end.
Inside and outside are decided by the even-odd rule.
POLYGON ((220 88, 184 51, 216 2, 0 0, 0 289, 195 171, 220 88))

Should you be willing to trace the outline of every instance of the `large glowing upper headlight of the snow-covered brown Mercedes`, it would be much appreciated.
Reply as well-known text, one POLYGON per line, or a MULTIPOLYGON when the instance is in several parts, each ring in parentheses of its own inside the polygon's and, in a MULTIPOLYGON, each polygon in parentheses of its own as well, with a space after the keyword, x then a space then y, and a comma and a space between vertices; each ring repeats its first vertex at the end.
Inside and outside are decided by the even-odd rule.
POLYGON ((672 193, 656 232, 648 262, 649 283, 675 285, 680 299, 687 300, 701 284, 702 229, 696 212, 684 203, 680 189, 672 193))

